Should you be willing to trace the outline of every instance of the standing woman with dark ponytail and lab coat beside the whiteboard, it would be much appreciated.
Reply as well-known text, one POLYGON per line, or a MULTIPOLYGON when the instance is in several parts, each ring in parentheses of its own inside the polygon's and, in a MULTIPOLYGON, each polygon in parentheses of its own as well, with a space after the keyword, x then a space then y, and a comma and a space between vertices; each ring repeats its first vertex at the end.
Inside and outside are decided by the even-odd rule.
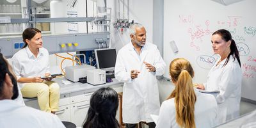
POLYGON ((241 99, 242 71, 236 42, 229 31, 220 29, 212 34, 212 49, 214 54, 220 54, 220 59, 211 68, 207 82, 198 84, 202 90, 218 90, 216 95, 219 123, 239 116, 241 99))

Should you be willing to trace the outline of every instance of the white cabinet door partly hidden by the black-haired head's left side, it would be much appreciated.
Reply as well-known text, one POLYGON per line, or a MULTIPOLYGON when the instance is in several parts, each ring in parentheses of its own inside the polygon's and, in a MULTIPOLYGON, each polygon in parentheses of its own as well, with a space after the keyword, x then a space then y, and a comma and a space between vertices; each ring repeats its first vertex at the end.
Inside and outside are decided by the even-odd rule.
POLYGON ((83 125, 89 108, 90 100, 71 104, 71 122, 76 124, 76 127, 81 127, 83 125))

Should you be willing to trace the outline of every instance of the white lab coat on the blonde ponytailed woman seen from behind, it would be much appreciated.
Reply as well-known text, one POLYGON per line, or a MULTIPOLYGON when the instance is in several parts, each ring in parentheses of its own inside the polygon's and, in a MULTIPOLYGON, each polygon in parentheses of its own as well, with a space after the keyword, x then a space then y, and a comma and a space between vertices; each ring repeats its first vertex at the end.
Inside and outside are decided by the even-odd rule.
MULTIPOLYGON (((210 128, 216 125, 218 106, 211 94, 200 93, 195 89, 195 125, 198 128, 210 128)), ((176 122, 174 98, 165 100, 160 108, 156 128, 179 127, 176 122)))

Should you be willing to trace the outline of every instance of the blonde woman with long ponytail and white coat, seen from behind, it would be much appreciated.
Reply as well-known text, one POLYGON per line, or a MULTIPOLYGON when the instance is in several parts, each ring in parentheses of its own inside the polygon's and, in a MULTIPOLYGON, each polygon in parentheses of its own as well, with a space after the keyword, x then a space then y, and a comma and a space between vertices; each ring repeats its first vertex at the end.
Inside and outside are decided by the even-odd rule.
POLYGON ((216 100, 213 95, 194 90, 194 71, 189 61, 184 58, 173 60, 170 63, 170 76, 175 90, 161 105, 156 127, 214 127, 216 100))

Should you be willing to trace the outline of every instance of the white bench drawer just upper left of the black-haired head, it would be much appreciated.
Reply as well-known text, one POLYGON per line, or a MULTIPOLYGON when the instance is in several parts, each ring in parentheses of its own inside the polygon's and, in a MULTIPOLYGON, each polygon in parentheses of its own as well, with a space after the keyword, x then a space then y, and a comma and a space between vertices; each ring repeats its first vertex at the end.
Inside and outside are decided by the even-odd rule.
POLYGON ((90 100, 92 93, 93 92, 86 93, 84 91, 71 93, 70 102, 75 103, 90 100))

